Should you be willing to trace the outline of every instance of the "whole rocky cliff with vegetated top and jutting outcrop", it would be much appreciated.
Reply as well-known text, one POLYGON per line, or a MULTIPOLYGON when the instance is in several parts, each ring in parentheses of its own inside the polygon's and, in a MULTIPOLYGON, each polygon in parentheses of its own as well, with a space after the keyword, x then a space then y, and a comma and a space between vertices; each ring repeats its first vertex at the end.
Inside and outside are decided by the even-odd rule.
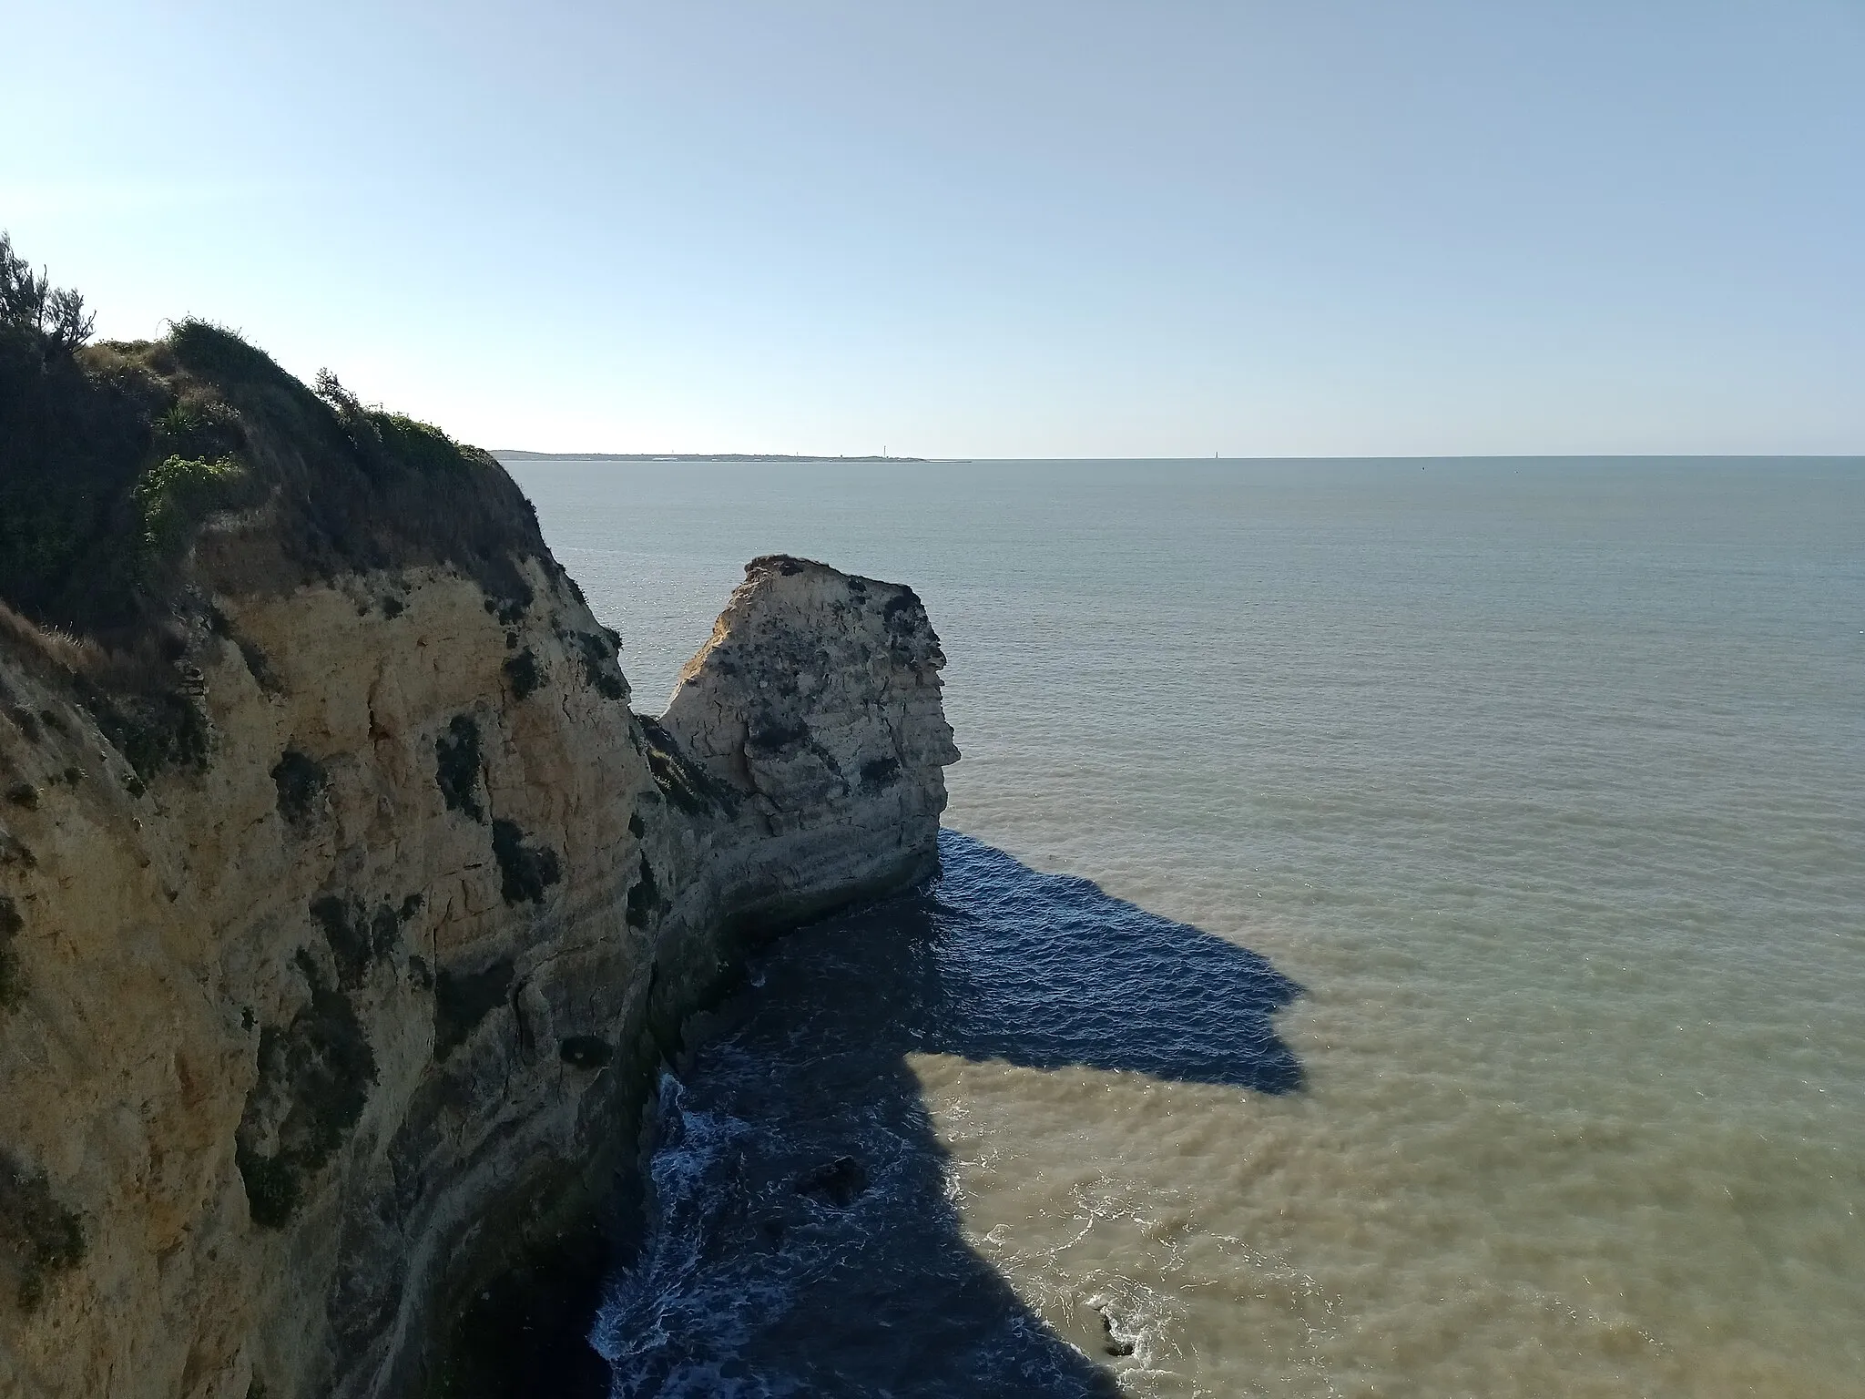
POLYGON ((483 453, 196 323, 6 353, 0 1392, 431 1384, 748 940, 932 867, 938 638, 755 560, 645 718, 483 453))

